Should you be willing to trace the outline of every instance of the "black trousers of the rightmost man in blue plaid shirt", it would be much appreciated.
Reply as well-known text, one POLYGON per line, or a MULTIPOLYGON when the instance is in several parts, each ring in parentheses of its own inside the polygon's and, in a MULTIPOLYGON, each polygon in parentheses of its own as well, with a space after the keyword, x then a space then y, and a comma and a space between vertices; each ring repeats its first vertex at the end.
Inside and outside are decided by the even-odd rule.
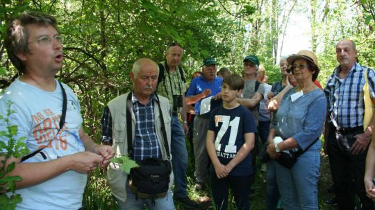
POLYGON ((327 150, 329 163, 331 164, 331 173, 333 183, 335 184, 335 193, 338 198, 339 209, 353 210, 356 205, 356 195, 360 198, 362 209, 374 209, 372 200, 367 198, 363 177, 365 177, 365 162, 367 150, 358 155, 351 155, 344 143, 338 141, 347 140, 349 147, 355 141, 355 135, 360 132, 354 132, 347 135, 338 134, 331 125, 327 137, 327 150))

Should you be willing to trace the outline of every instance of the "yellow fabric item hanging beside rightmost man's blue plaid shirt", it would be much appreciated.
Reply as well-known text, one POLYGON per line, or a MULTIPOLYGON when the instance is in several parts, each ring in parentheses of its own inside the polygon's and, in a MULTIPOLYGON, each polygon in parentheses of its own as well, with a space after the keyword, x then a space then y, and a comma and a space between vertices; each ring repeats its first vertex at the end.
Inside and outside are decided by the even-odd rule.
POLYGON ((363 86, 363 101, 365 105, 365 114, 363 116, 363 130, 365 131, 369 123, 371 122, 372 115, 375 113, 375 106, 374 103, 372 103, 371 97, 370 97, 370 90, 369 90, 369 81, 368 81, 368 70, 367 68, 365 70, 365 85, 363 86))

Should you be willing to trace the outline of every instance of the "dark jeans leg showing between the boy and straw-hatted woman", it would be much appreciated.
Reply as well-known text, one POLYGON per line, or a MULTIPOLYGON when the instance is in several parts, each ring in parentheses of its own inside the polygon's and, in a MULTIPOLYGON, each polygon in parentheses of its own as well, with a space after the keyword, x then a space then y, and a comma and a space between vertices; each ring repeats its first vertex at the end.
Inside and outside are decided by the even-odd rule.
POLYGON ((270 159, 267 162, 267 196, 266 205, 267 210, 276 210, 280 193, 278 192, 278 185, 276 180, 276 161, 270 159))

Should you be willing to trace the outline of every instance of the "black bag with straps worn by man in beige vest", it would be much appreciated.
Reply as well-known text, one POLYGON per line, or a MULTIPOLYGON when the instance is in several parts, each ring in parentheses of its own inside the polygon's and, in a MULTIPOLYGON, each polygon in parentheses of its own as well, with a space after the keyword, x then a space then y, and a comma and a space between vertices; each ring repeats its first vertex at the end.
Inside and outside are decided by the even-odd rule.
MULTIPOLYGON (((126 130, 128 137, 128 156, 133 157, 133 138, 132 138, 132 124, 131 124, 131 96, 128 94, 126 99, 126 130)), ((134 193, 135 198, 150 199, 151 204, 155 205, 156 198, 163 198, 167 195, 169 189, 169 175, 172 172, 170 163, 169 146, 167 141, 167 132, 163 119, 163 112, 160 107, 158 95, 156 95, 160 121, 163 132, 163 139, 165 150, 167 152, 167 159, 147 158, 142 161, 137 161, 138 168, 132 168, 129 176, 129 187, 134 193)))

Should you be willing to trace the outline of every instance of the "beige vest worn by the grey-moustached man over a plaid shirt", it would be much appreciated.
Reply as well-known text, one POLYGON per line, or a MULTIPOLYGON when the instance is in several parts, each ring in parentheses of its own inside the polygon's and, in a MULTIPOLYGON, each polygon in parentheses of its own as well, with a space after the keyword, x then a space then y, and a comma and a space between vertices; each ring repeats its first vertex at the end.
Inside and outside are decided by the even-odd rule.
MULTIPOLYGON (((126 98, 129 93, 117 96, 108 103, 110 115, 112 116, 112 133, 113 133, 113 149, 115 150, 115 157, 128 154, 128 139, 126 129, 126 98)), ((169 100, 163 96, 159 96, 160 107, 163 112, 165 123, 165 130, 167 132, 167 141, 169 151, 171 150, 171 115, 169 100)), ((165 150, 165 143, 163 141, 163 133, 161 131, 161 121, 158 103, 154 103, 153 114, 155 116, 155 131, 156 137, 160 145, 163 159, 167 159, 165 150)), ((135 116, 131 112, 132 137, 135 135, 135 116)), ((170 153, 170 152, 169 152, 170 153)), ((172 156, 172 155, 171 155, 172 156)), ((116 198, 126 202, 126 181, 128 175, 119 169, 117 164, 110 163, 108 166, 107 180, 110 190, 116 198)), ((170 175, 169 187, 173 184, 173 173, 170 175)))

